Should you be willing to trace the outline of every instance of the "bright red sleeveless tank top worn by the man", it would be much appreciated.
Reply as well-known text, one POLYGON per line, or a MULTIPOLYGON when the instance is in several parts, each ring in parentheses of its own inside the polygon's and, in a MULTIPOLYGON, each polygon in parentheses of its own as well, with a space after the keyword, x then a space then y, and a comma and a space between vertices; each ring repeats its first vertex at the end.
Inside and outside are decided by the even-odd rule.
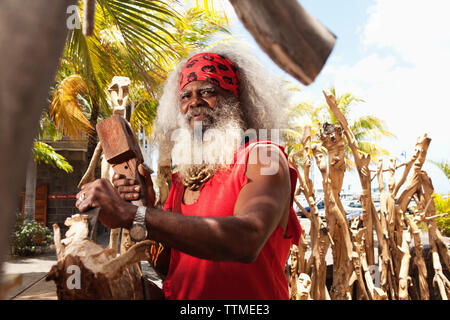
MULTIPOLYGON (((257 144, 268 143, 271 142, 250 142, 245 147, 241 147, 235 155, 234 164, 229 169, 218 171, 204 183, 198 200, 192 205, 183 204, 185 188, 175 174, 164 210, 189 216, 232 216, 239 192, 248 181, 246 168, 250 150, 257 144)), ((287 157, 284 148, 278 147, 287 157)), ((277 226, 257 259, 250 264, 199 259, 172 249, 169 271, 163 283, 166 299, 274 300, 289 298, 284 267, 291 244, 298 244, 302 232, 292 208, 297 173, 291 166, 289 171, 291 208, 286 232, 282 227, 277 226)))

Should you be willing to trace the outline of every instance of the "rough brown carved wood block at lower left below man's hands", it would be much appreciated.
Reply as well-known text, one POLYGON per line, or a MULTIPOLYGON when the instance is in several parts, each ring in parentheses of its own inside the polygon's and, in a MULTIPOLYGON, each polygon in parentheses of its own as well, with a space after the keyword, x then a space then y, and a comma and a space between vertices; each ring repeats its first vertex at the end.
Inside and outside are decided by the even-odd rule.
POLYGON ((134 266, 149 259, 152 241, 142 241, 116 257, 114 249, 87 240, 86 215, 76 214, 65 224, 70 228, 63 240, 58 225, 53 225, 58 262, 46 277, 47 281, 55 281, 58 299, 144 298, 140 272, 134 266))

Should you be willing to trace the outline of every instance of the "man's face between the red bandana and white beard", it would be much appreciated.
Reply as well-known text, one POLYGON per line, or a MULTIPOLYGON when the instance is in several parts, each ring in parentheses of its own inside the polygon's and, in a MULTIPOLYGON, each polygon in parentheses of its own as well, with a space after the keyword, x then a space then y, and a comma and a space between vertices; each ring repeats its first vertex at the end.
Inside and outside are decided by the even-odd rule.
POLYGON ((191 128, 195 121, 202 121, 204 127, 214 124, 214 111, 219 107, 217 99, 227 92, 208 81, 192 81, 180 92, 180 111, 186 116, 191 128))

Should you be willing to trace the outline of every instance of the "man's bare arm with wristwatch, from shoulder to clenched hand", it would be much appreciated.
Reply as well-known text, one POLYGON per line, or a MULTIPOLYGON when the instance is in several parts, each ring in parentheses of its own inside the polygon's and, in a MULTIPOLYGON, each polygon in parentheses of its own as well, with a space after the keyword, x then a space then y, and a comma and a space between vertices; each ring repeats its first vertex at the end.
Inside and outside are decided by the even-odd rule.
MULTIPOLYGON (((247 165, 248 183, 239 193, 233 216, 193 217, 147 208, 149 237, 198 258, 253 262, 275 228, 285 226, 291 186, 287 160, 278 147, 257 146, 250 159, 255 161, 247 165)), ((100 206, 102 223, 130 227, 136 207, 105 188, 101 182, 87 185, 83 189, 87 204, 77 206, 81 211, 100 206)))

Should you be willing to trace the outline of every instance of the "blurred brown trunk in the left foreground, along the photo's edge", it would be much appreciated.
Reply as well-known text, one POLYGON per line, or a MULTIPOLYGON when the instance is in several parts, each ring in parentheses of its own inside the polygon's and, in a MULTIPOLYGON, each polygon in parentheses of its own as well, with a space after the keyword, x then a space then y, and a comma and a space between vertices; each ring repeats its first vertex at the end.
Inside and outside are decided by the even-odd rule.
MULTIPOLYGON (((0 1, 0 264, 75 0, 0 1)), ((1 265, 0 265, 1 267, 1 265)))

